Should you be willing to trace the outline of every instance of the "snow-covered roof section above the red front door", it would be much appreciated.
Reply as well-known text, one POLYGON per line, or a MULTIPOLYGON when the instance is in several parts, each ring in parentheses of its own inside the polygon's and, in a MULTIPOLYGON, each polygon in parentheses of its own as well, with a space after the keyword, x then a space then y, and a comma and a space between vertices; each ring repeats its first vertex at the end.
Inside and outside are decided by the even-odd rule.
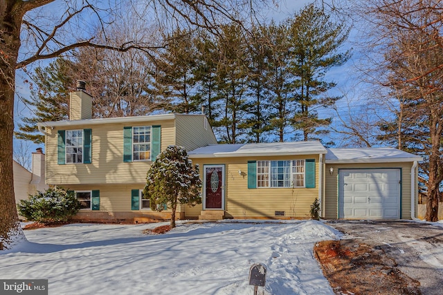
POLYGON ((260 144, 211 144, 188 153, 190 158, 260 155, 312 155, 327 153, 320 142, 266 142, 260 144))

